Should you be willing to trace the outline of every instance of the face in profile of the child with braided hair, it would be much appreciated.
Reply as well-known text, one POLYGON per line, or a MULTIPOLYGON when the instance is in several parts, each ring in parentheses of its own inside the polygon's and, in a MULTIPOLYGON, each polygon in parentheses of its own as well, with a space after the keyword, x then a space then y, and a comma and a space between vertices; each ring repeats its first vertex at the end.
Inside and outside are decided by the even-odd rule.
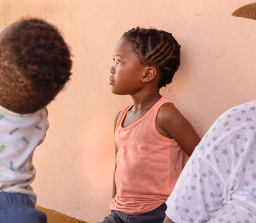
POLYGON ((141 78, 146 73, 146 66, 141 64, 125 38, 115 45, 110 72, 109 84, 112 85, 113 94, 133 95, 143 87, 141 78))

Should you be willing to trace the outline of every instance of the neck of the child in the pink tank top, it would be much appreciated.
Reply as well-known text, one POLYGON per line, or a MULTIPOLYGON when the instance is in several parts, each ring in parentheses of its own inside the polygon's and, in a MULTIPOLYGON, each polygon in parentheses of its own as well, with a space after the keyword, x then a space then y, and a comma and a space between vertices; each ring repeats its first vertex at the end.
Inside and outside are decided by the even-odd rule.
POLYGON ((131 95, 131 98, 133 98, 133 109, 135 111, 149 110, 161 97, 159 90, 146 95, 131 95))

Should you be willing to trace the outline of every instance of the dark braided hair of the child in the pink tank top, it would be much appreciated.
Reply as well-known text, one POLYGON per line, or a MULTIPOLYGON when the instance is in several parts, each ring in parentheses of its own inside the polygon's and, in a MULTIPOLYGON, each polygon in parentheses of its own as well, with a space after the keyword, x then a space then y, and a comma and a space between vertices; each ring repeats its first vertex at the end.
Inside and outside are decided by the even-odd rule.
POLYGON ((180 45, 172 33, 137 27, 125 32, 122 38, 130 42, 131 50, 142 64, 156 67, 159 89, 172 82, 180 66, 180 45))

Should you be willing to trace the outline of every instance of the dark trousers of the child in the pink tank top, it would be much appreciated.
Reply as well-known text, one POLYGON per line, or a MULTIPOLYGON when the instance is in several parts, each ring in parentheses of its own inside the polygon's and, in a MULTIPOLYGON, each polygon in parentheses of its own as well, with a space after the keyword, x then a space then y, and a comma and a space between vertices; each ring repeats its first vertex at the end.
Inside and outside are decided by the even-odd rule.
POLYGON ((164 203, 153 211, 137 216, 112 210, 111 214, 100 223, 162 223, 166 217, 166 208, 166 203, 164 203))

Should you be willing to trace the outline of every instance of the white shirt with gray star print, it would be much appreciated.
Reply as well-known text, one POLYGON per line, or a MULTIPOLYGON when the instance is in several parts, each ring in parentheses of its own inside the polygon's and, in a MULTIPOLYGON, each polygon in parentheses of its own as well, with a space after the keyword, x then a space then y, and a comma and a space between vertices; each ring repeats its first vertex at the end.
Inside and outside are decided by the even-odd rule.
POLYGON ((256 222, 256 101, 219 116, 166 203, 175 223, 256 222))

